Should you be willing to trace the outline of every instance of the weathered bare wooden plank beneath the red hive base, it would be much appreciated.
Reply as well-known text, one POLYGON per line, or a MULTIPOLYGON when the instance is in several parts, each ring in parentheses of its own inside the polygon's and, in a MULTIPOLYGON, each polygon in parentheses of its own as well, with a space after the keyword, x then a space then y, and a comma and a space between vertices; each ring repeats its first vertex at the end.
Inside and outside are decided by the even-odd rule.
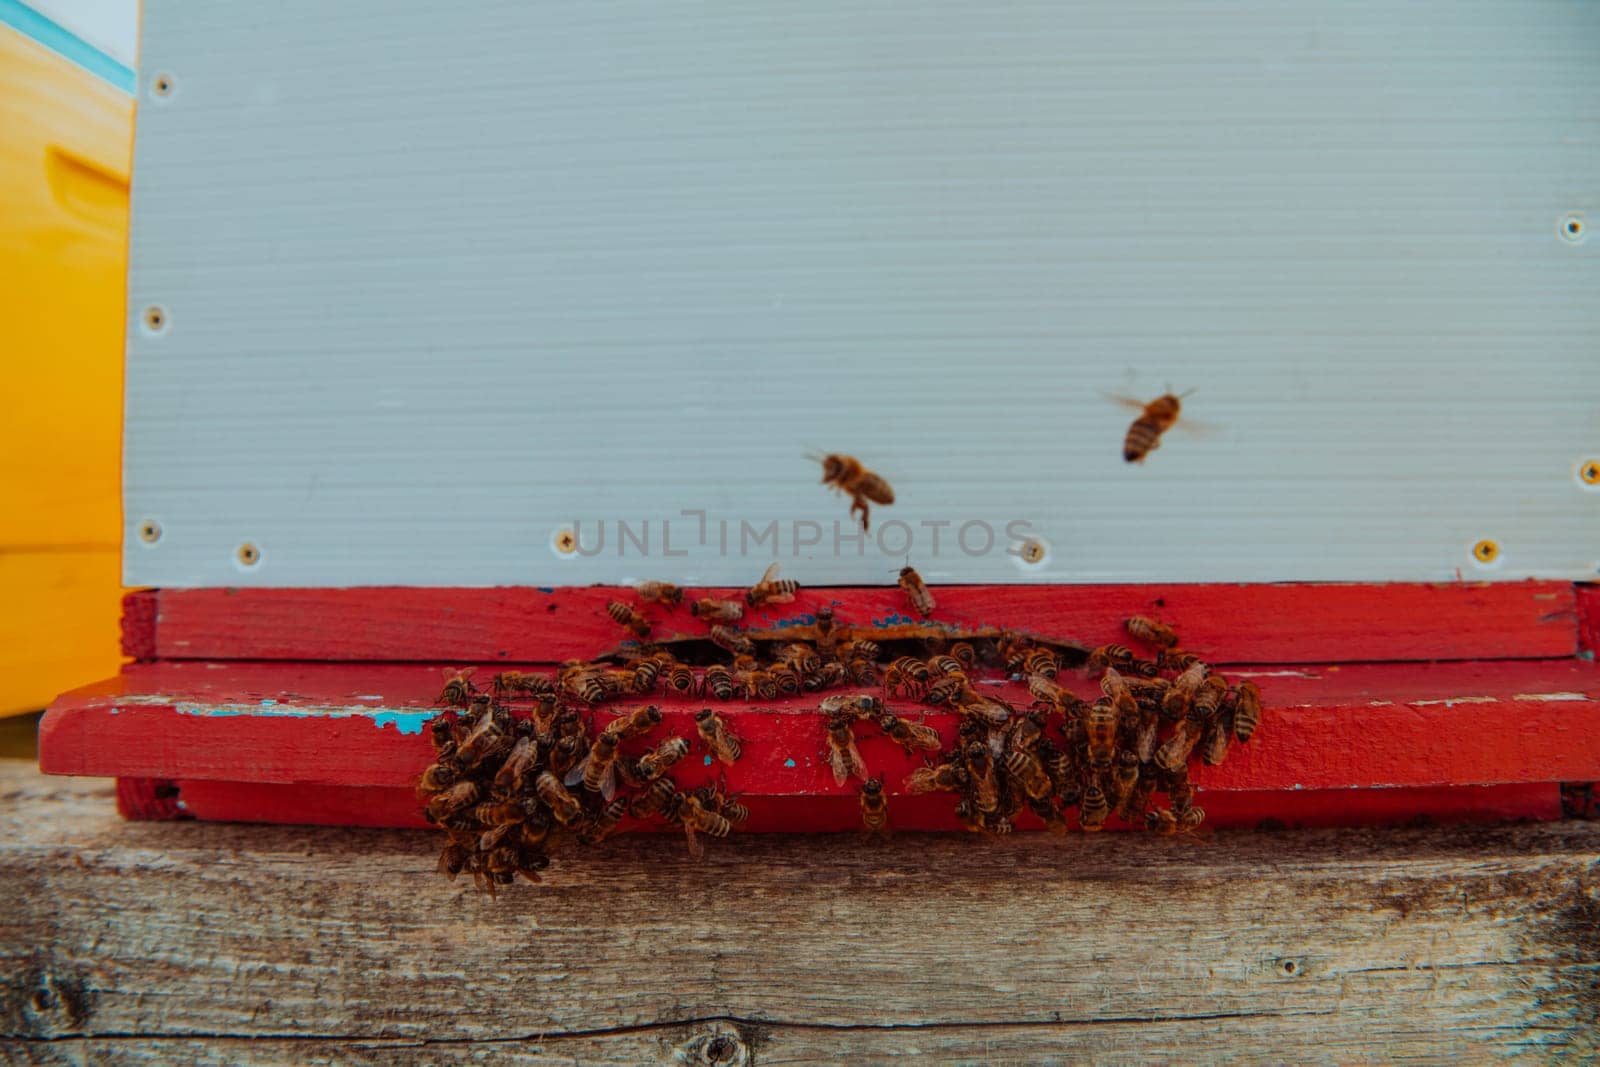
POLYGON ((0 795, 24 1062, 638 1062, 717 1021, 762 1064, 1477 1062, 1600 1035, 1595 824, 773 835, 702 864, 621 838, 491 901, 432 873, 429 833, 120 824, 109 785, 26 765, 0 795))

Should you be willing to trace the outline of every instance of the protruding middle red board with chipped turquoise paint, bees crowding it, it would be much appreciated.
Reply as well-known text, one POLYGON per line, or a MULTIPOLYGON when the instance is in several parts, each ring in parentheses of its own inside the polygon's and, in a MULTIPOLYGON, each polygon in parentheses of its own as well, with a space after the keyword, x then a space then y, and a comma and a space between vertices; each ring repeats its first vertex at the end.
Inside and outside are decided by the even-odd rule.
MULTIPOLYGON (((1200 789, 1600 779, 1600 669, 1576 657, 1235 675, 1262 688, 1261 733, 1222 766, 1197 768, 1200 789)), ((438 677, 437 667, 410 664, 134 664, 56 701, 40 725, 40 766, 56 774, 406 787, 429 761, 422 720, 438 677), (402 733, 400 723, 414 733, 402 733)), ((1069 681, 1091 693, 1086 680, 1069 681)), ((1016 688, 997 691, 1027 702, 1016 688)), ((701 702, 651 699, 664 710, 658 736, 693 736, 701 702)), ((728 769, 734 790, 808 803, 848 792, 822 769, 814 696, 720 710, 746 742, 744 758, 728 769)), ((954 736, 950 715, 926 721, 954 736)), ((912 760, 877 736, 861 749, 898 793, 912 760)))

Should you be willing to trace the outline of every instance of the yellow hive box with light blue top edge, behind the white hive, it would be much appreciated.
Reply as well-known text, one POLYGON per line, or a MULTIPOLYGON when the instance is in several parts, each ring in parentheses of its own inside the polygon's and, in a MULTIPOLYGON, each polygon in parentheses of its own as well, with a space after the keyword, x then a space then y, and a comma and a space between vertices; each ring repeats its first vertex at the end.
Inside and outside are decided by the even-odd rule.
POLYGON ((0 0, 0 715, 122 662, 133 72, 0 0))

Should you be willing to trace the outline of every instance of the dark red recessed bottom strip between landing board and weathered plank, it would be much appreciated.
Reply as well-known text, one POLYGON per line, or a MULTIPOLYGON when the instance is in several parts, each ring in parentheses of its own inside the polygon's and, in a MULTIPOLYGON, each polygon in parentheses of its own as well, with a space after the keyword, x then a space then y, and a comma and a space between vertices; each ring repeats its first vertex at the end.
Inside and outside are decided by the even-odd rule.
MULTIPOLYGON (((294 822, 312 825, 426 827, 410 789, 355 785, 280 785, 262 782, 190 781, 179 785, 178 816, 229 822, 294 822)), ((773 798, 747 798, 750 821, 739 832, 840 832, 858 825, 851 797, 819 797, 803 809, 773 798)), ((891 819, 901 830, 958 830, 950 797, 899 797, 891 819)), ((1555 784, 1350 789, 1302 792, 1197 793, 1210 827, 1328 827, 1434 822, 1502 822, 1558 819, 1555 784)), ((675 832, 659 822, 630 824, 632 830, 675 832)), ((1040 829, 1024 817, 1019 829, 1040 829)), ((1110 829, 1118 827, 1112 819, 1110 829)))

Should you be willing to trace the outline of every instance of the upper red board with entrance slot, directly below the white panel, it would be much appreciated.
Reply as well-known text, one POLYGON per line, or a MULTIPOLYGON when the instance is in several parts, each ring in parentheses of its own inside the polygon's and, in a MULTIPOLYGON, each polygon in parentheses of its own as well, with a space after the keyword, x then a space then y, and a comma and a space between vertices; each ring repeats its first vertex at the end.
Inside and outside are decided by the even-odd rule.
MULTIPOLYGON (((803 577, 803 574, 797 574, 803 577)), ((736 590, 691 590, 730 595, 736 590)), ((165 589, 154 637, 130 624, 139 659, 560 662, 618 645, 605 616, 616 587, 165 589), (154 651, 152 651, 154 645, 154 651)), ((1291 585, 944 585, 938 622, 1010 625, 1099 645, 1126 640, 1120 621, 1154 614, 1213 662, 1294 664, 1571 656, 1568 582, 1291 585)), ((134 601, 142 611, 142 600, 134 601)), ((810 589, 754 613, 754 627, 810 622, 837 603, 840 622, 910 622, 896 587, 810 589)), ((688 608, 646 608, 654 637, 702 637, 688 608)))

